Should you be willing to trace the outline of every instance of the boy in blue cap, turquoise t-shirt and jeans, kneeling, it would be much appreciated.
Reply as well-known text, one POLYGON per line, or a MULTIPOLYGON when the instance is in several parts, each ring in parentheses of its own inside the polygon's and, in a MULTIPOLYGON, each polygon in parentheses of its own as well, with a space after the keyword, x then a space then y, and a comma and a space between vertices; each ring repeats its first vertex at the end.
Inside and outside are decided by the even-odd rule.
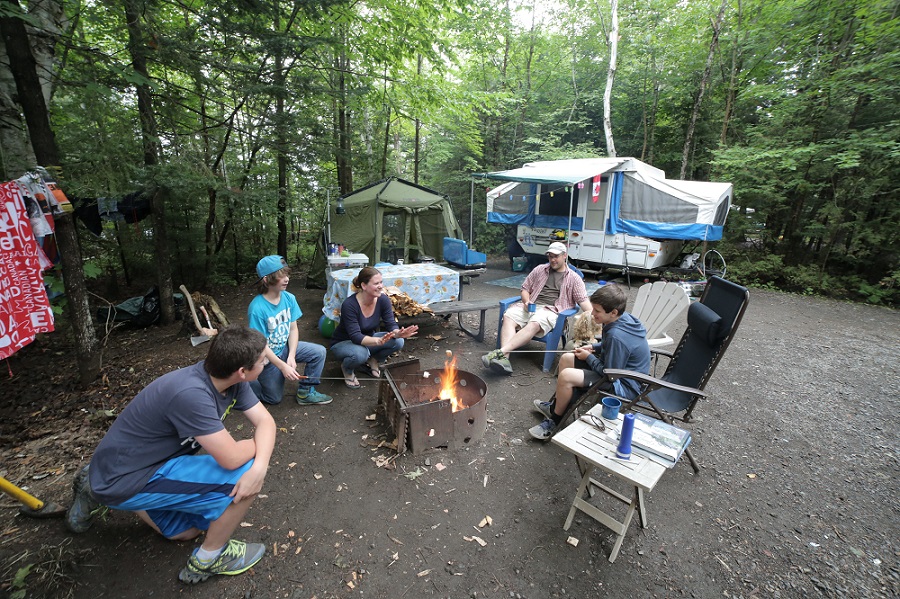
POLYGON ((319 393, 315 386, 325 367, 325 348, 300 341, 297 320, 303 316, 294 294, 287 291, 291 269, 281 256, 266 256, 256 264, 257 295, 247 308, 250 328, 266 336, 268 364, 250 387, 263 403, 281 403, 284 381, 303 380, 297 387, 297 403, 302 406, 331 403, 331 396, 319 393), (305 363, 304 376, 297 364, 305 363))

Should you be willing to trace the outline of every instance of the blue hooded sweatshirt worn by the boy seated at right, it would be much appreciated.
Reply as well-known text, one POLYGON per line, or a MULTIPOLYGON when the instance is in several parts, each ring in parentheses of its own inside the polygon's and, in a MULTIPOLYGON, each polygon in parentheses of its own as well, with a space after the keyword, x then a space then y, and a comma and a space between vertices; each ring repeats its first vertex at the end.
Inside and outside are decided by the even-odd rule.
MULTIPOLYGON (((650 373, 647 329, 629 312, 623 312, 615 322, 603 325, 603 337, 593 347, 594 353, 588 356, 587 365, 598 374, 603 374, 604 368, 650 373)), ((619 379, 615 382, 615 393, 623 399, 633 399, 639 392, 637 381, 619 379)))

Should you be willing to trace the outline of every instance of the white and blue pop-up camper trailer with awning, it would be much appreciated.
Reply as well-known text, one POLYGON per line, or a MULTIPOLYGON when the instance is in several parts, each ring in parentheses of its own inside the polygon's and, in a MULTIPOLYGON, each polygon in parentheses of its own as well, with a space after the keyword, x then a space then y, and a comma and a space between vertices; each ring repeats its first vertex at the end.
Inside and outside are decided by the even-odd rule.
POLYGON ((672 265, 685 241, 718 241, 730 183, 674 181, 636 158, 528 163, 475 177, 505 181, 487 194, 489 223, 517 225, 519 245, 543 255, 567 242, 590 269, 652 272, 672 265))

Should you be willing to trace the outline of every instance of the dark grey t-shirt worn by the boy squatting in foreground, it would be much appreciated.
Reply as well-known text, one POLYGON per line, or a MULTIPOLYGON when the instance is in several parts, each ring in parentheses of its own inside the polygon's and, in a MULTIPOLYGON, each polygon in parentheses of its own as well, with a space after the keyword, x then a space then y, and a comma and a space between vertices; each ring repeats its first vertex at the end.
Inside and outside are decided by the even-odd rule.
POLYGON ((144 388, 122 411, 91 459, 91 490, 106 505, 139 493, 165 462, 196 453, 194 440, 224 429, 225 411, 259 402, 248 383, 221 394, 203 362, 165 374, 144 388))

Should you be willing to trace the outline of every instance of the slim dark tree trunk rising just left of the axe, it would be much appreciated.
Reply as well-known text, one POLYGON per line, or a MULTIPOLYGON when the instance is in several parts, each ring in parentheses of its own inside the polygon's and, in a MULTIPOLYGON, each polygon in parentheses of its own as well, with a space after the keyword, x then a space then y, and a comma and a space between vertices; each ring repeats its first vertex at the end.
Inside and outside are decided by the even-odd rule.
MULTIPOLYGON (((147 71, 147 46, 143 41, 143 30, 140 25, 140 6, 137 0, 125 0, 125 19, 128 24, 128 50, 131 53, 131 64, 136 73, 146 81, 150 80, 147 71)), ((135 86, 138 96, 138 114, 141 119, 141 141, 144 147, 144 164, 153 171, 159 164, 159 141, 156 131, 156 115, 153 112, 153 96, 146 83, 135 86)), ((175 304, 172 302, 174 286, 172 285, 172 266, 169 259, 169 239, 166 228, 166 198, 168 192, 162 188, 154 189, 150 197, 153 210, 153 245, 156 250, 156 276, 159 285, 160 322, 175 322, 175 304)))

